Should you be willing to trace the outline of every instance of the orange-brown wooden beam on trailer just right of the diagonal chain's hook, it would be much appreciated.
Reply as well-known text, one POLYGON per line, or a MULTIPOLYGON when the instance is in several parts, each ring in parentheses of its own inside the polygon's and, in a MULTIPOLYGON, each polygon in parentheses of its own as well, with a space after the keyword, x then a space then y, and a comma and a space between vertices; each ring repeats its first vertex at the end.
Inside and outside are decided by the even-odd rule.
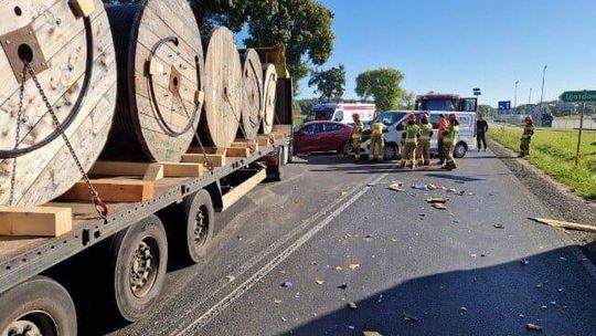
MULTIPOLYGON (((152 181, 99 179, 92 180, 93 187, 105 202, 143 202, 155 198, 152 181)), ((85 181, 74 185, 60 197, 61 200, 81 201, 89 199, 89 189, 85 181)))

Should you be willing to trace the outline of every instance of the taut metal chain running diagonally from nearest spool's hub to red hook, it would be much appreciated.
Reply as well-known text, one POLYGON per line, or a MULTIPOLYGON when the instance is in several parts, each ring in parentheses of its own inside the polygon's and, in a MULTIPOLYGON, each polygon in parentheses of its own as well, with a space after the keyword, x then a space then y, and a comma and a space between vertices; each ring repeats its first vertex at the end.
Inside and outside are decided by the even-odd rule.
POLYGON ((54 108, 52 107, 52 104, 50 104, 50 101, 47 99, 47 96, 45 95, 45 92, 43 91, 38 76, 35 75, 35 72, 31 67, 29 63, 24 64, 25 69, 28 70, 29 74, 31 75, 31 78, 33 80, 33 83, 35 84, 35 87, 38 88, 43 103, 45 104, 45 107, 47 108, 47 112, 50 113, 50 116, 52 117, 52 122, 54 123, 54 126, 60 132, 62 139, 64 140, 64 144, 66 144, 66 147, 68 148, 68 151, 71 153, 71 156, 73 157, 73 160, 75 161, 76 167, 78 168, 78 171, 81 175, 83 175, 83 179, 85 180, 85 183, 87 185, 87 189, 89 190, 89 195, 92 198, 92 202, 95 206, 95 210, 97 211, 97 214, 102 217, 103 219, 107 219, 107 206, 99 198, 99 193, 93 187, 89 177, 87 176, 87 172, 85 171, 85 168, 83 168, 83 165, 81 164, 81 160, 78 159, 78 156, 76 155, 73 145, 71 144, 71 140, 68 140, 68 137, 66 136, 66 133, 64 132, 64 128, 62 128, 62 124, 60 124, 60 119, 57 118, 54 108))

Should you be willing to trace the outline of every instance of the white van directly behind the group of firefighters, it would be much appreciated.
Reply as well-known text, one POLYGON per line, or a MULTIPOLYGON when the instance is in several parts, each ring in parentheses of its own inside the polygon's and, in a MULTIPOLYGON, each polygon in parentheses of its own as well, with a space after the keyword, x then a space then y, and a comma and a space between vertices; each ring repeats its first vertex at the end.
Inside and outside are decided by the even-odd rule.
MULTIPOLYGON (((419 123, 423 112, 416 111, 387 111, 382 112, 376 119, 387 126, 387 133, 385 133, 385 159, 394 160, 400 158, 402 153, 402 133, 406 124, 406 117, 408 114, 414 113, 416 115, 416 122, 419 123)), ((438 153, 437 135, 438 135, 438 119, 439 114, 444 114, 446 118, 449 117, 445 112, 427 112, 430 116, 430 124, 433 124, 433 138, 430 139, 430 154, 438 153)), ((454 156, 456 158, 462 158, 469 148, 475 148, 475 128, 476 128, 476 113, 475 112, 450 112, 457 115, 459 122, 459 136, 457 138, 457 145, 454 149, 454 156)), ((376 122, 376 119, 374 122, 376 122)), ((366 135, 363 135, 362 139, 362 155, 368 155, 370 149, 370 139, 366 135)))

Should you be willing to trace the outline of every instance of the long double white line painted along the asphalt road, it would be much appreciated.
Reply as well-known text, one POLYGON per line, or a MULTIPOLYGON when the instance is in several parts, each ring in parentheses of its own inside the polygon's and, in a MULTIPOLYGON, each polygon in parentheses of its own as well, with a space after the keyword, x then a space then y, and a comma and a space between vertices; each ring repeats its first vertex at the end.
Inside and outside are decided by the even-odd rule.
MULTIPOLYGON (((369 183, 377 183, 383 178, 385 178, 386 176, 389 176, 389 174, 383 174, 383 175, 379 176, 377 178, 373 179, 372 181, 369 181, 369 182, 364 183, 364 186, 366 186, 369 183)), ((366 193, 371 189, 372 189, 372 187, 362 188, 359 192, 356 192, 354 196, 352 196, 350 199, 348 199, 338 209, 336 209, 333 212, 331 212, 327 218, 324 218, 322 221, 317 223, 312 229, 310 229, 308 232, 306 232, 302 237, 300 237, 296 242, 294 242, 291 245, 289 245, 281 253, 276 255, 265 266, 263 266, 260 270, 255 272, 251 277, 248 277, 248 280, 246 280, 244 283, 242 283, 240 286, 237 286, 235 290, 233 290, 230 294, 227 294, 224 298, 222 298, 220 302, 217 302, 215 305, 213 305, 209 311, 206 311, 199 318, 196 318, 191 324, 189 324, 184 329, 179 330, 179 332, 174 330, 170 335, 194 335, 194 334, 196 334, 198 329, 201 329, 204 326, 206 326, 214 317, 216 317, 220 313, 222 313, 225 308, 227 308, 232 303, 234 303, 236 300, 238 300, 244 293, 246 293, 248 290, 251 290, 263 277, 265 277, 267 274, 269 274, 277 265, 279 265, 286 259, 288 259, 288 256, 290 256, 294 252, 296 252, 300 246, 302 246, 312 237, 315 237, 315 234, 317 234, 324 227, 327 227, 334 218, 340 216, 348 207, 350 207, 352 203, 354 203, 356 200, 359 200, 364 193, 366 193)), ((340 199, 340 200, 344 200, 344 199, 340 199)), ((270 250, 270 249, 268 249, 268 250, 270 250)), ((273 252, 273 251, 270 251, 270 252, 273 252)))

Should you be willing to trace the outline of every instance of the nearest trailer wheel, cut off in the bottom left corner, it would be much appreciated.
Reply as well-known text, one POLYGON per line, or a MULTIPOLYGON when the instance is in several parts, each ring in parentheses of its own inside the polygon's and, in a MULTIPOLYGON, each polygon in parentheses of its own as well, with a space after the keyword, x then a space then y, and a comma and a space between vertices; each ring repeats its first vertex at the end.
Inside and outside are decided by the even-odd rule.
POLYGON ((0 335, 76 335, 76 311, 68 292, 34 276, 0 296, 0 335))

